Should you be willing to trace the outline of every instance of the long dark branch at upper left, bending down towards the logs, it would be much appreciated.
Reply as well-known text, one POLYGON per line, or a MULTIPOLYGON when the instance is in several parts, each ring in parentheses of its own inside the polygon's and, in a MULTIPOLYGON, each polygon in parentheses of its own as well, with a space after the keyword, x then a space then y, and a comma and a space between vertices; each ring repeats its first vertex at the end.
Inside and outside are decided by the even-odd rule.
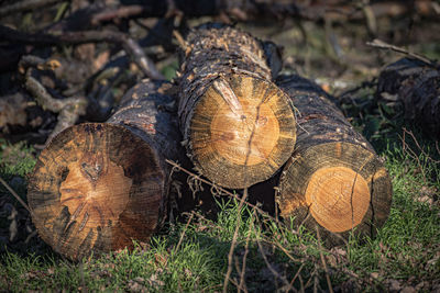
POLYGON ((152 78, 163 80, 165 77, 156 69, 154 63, 145 55, 141 46, 129 35, 111 31, 84 31, 84 32, 57 32, 54 34, 26 34, 0 25, 0 40, 12 41, 31 45, 59 45, 59 44, 86 44, 108 42, 120 44, 133 58, 142 72, 152 78))

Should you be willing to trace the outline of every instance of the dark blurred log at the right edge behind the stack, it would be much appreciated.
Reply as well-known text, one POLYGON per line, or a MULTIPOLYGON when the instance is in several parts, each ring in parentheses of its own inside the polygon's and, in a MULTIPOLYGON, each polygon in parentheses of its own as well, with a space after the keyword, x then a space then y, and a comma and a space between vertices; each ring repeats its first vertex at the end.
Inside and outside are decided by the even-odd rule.
POLYGON ((382 70, 377 98, 395 95, 404 104, 405 119, 429 136, 440 138, 440 66, 403 58, 382 70))

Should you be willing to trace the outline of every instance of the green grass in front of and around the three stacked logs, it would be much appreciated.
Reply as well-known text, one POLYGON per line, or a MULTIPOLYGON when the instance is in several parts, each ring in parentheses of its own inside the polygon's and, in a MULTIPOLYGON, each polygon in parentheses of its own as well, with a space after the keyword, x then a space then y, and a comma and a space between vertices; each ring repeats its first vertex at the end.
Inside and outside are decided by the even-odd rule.
MULTIPOLYGON (((438 148, 417 131, 414 135, 404 128, 398 105, 377 104, 373 88, 361 89, 355 100, 344 99, 349 99, 342 100, 345 115, 375 146, 393 180, 391 214, 374 239, 352 236, 346 245, 329 250, 304 227, 288 221, 277 223, 246 205, 240 210, 235 200, 218 199, 216 221, 197 212, 185 214, 148 244, 136 244, 133 251, 74 263, 55 255, 37 237, 25 243, 29 215, 1 187, 0 290, 218 292, 223 288, 238 223, 229 291, 274 292, 290 285, 326 291, 327 277, 334 290, 348 292, 405 286, 421 292, 439 290, 438 148), (8 218, 4 203, 19 211, 21 230, 13 243, 7 239, 13 219, 8 218)), ((24 199, 35 150, 24 143, 0 140, 0 176, 24 199)))

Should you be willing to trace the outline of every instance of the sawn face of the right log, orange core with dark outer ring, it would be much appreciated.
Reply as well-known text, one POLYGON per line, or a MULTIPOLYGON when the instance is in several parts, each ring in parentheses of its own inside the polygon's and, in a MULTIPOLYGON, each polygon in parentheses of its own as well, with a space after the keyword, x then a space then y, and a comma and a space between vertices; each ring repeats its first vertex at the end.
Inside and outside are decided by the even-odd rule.
MULTIPOLYGON (((372 235, 389 214, 392 184, 377 157, 350 143, 298 151, 284 169, 277 202, 280 215, 329 234, 353 228, 372 235)), ((334 240, 338 237, 333 237, 334 240)))

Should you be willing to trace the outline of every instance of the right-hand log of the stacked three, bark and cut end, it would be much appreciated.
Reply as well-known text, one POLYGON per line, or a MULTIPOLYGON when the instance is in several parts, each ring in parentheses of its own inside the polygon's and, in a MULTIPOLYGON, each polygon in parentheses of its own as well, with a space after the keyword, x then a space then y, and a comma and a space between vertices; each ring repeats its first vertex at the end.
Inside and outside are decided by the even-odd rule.
POLYGON ((392 202, 391 180, 374 149, 318 86, 298 76, 277 84, 299 113, 295 151, 276 198, 280 215, 312 230, 318 224, 329 244, 348 238, 353 228, 374 235, 392 202))

